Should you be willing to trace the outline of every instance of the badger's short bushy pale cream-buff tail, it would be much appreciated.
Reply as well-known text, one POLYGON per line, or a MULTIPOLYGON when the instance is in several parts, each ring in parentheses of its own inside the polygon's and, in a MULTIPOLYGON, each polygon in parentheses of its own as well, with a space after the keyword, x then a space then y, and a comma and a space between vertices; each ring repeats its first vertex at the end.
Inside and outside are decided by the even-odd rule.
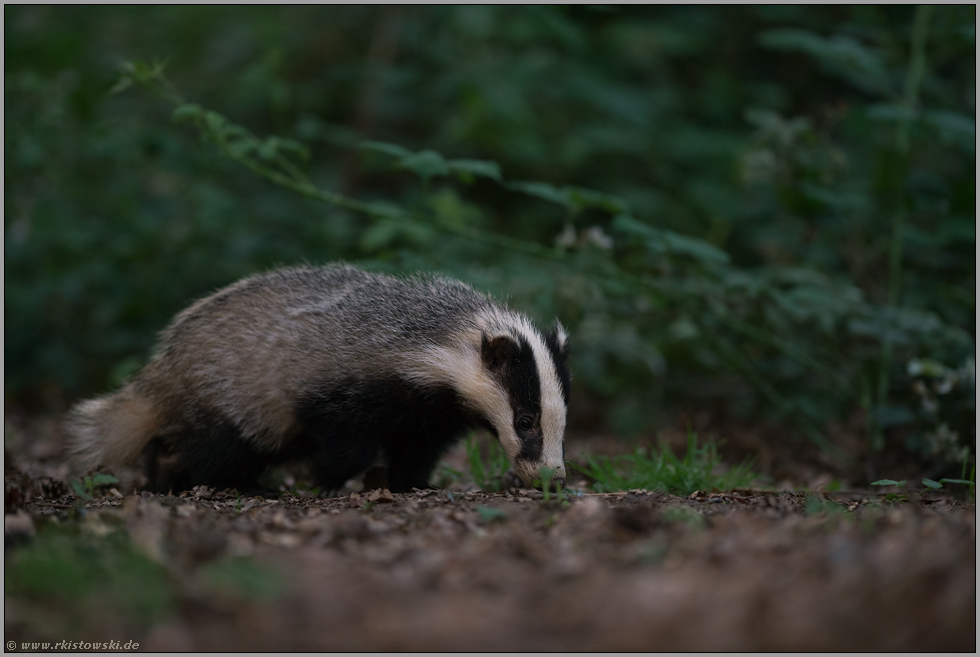
POLYGON ((128 385, 119 392, 81 402, 65 423, 74 472, 115 468, 135 461, 159 428, 153 403, 128 385))

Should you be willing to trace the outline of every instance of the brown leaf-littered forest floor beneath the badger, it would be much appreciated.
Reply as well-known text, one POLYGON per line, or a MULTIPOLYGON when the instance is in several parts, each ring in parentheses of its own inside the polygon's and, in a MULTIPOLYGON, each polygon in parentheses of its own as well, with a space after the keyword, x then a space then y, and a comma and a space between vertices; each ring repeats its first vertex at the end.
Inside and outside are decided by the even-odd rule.
POLYGON ((8 651, 976 650, 976 507, 944 491, 85 501, 27 444, 5 451, 8 651))

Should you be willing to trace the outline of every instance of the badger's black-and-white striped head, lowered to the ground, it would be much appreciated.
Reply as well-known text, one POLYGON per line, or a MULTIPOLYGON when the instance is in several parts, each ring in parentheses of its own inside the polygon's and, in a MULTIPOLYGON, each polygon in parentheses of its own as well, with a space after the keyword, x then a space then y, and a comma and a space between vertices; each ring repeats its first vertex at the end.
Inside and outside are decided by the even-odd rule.
POLYGON ((570 375, 568 335, 561 324, 542 335, 525 322, 486 331, 480 358, 496 384, 498 404, 487 419, 517 475, 541 487, 541 472, 552 473, 552 487, 565 485, 565 416, 570 375))

